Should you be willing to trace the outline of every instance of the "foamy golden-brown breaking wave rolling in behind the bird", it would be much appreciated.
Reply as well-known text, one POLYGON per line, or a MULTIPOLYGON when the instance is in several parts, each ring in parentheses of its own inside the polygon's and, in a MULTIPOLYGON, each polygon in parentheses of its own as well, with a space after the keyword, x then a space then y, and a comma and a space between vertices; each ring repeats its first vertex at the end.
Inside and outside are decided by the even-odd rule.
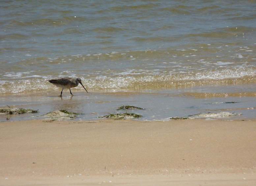
MULTIPOLYGON (((65 72, 70 73, 70 72, 65 72)), ((64 74, 65 74, 64 73, 64 74)), ((11 73, 12 74, 12 73, 11 73)), ((10 75, 11 75, 10 74, 10 75)), ((104 74, 101 73, 100 74, 104 74)), ((243 83, 256 83, 255 69, 225 69, 221 71, 205 71, 202 73, 160 73, 151 70, 129 70, 120 73, 106 73, 106 75, 91 75, 92 77, 81 77, 83 85, 91 91, 143 91, 158 89, 173 89, 177 87, 205 86, 205 85, 234 85, 243 83)), ((15 75, 15 74, 12 74, 15 75)), ((53 77, 43 77, 31 74, 17 73, 11 79, 2 80, 0 85, 1 93, 27 93, 39 91, 60 90, 51 85, 47 80, 53 77), (22 78, 26 75, 26 78, 22 78), (21 78, 20 78, 21 77, 21 78), (16 79, 15 79, 16 78, 16 79)), ((59 76, 60 78, 63 76, 59 76)), ((72 76, 75 77, 75 76, 72 76)), ((73 88, 78 91, 81 87, 73 88)))

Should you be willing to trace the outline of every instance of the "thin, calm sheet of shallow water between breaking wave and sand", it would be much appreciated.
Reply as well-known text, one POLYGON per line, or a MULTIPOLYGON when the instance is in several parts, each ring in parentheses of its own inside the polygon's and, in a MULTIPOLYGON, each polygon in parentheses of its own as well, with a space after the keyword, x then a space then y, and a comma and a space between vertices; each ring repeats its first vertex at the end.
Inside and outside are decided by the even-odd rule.
POLYGON ((69 91, 64 92, 62 97, 56 96, 58 92, 46 93, 45 95, 15 95, 10 96, 12 101, 2 99, 1 103, 11 107, 24 107, 39 110, 37 114, 4 115, 0 121, 45 119, 39 115, 53 110, 68 110, 81 113, 72 120, 95 120, 99 116, 113 113, 136 113, 143 117, 136 120, 169 120, 170 117, 187 117, 199 113, 231 112, 242 114, 219 118, 224 120, 250 120, 255 119, 255 96, 202 96, 200 93, 181 92, 148 92, 148 93, 95 93, 75 92, 71 96, 69 91), (226 103, 235 102, 235 103, 226 103), (12 105, 10 105, 12 103, 12 105), (144 108, 143 110, 117 110, 123 105, 133 105, 144 108), (33 117, 32 117, 33 116, 33 117))

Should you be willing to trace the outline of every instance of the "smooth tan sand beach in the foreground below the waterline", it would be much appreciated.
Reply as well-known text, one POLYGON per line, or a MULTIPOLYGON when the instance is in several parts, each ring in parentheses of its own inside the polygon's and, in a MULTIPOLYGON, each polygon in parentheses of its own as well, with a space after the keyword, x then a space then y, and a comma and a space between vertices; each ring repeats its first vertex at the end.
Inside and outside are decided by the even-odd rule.
POLYGON ((0 126, 0 185, 256 185, 256 121, 0 126))

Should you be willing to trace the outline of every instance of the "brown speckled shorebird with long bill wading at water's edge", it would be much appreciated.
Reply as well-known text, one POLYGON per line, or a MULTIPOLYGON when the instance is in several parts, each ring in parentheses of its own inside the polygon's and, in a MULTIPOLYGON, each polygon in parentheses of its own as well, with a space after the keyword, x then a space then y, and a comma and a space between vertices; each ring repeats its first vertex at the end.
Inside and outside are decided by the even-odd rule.
MULTIPOLYGON (((80 83, 82 86, 82 81, 80 78, 73 78, 73 77, 64 77, 64 78, 61 78, 61 79, 52 79, 52 80, 48 80, 50 83, 56 85, 57 87, 61 87, 62 90, 61 90, 61 93, 60 93, 60 96, 62 96, 62 91, 64 89, 69 89, 70 90, 70 93, 71 93, 71 88, 73 87, 77 87, 78 84, 80 83)), ((83 86, 84 88, 84 86, 83 86)), ((85 88, 84 88, 85 89, 85 88)), ((86 90, 86 89, 85 89, 86 90)), ((87 92, 87 91, 86 91, 87 92)), ((87 92, 88 93, 88 92, 87 92)), ((71 95, 73 95, 71 93, 71 95)))

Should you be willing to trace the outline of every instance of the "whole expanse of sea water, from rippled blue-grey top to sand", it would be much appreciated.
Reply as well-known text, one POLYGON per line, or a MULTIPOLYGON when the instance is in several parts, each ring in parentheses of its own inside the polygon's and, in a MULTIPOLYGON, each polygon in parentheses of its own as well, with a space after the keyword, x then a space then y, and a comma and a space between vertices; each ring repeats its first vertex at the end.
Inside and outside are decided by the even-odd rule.
POLYGON ((255 8, 250 0, 4 1, 0 107, 64 107, 80 120, 126 104, 145 108, 141 120, 222 109, 255 118, 255 8), (47 80, 68 76, 89 94, 79 85, 58 97, 47 80))

